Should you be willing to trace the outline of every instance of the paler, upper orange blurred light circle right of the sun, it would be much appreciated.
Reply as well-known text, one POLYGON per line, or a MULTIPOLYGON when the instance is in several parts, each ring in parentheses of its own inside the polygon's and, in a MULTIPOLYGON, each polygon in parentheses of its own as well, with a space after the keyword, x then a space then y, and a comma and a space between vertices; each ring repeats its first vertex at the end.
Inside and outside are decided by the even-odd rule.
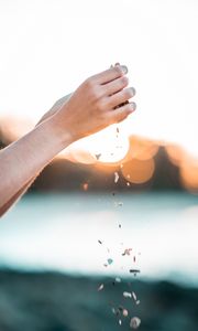
POLYGON ((158 145, 154 143, 154 141, 132 136, 130 137, 130 150, 125 159, 131 160, 135 158, 144 161, 152 159, 157 151, 158 145))

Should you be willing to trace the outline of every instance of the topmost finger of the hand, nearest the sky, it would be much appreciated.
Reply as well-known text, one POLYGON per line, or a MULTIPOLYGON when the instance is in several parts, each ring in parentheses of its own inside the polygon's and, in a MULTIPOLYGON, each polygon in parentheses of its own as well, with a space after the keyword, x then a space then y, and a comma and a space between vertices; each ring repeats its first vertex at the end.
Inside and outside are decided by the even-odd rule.
POLYGON ((127 73, 128 73, 128 67, 125 65, 117 65, 100 74, 92 76, 92 78, 96 79, 98 84, 103 85, 125 75, 127 73))

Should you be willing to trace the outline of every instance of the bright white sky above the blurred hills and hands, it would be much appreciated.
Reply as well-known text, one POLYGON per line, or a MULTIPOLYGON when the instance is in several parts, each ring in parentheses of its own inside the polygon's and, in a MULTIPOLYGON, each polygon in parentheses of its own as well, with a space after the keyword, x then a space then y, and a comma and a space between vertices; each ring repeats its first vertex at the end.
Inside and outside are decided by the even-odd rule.
POLYGON ((124 131, 198 156, 197 0, 0 0, 0 115, 38 119, 120 62, 136 88, 124 131))

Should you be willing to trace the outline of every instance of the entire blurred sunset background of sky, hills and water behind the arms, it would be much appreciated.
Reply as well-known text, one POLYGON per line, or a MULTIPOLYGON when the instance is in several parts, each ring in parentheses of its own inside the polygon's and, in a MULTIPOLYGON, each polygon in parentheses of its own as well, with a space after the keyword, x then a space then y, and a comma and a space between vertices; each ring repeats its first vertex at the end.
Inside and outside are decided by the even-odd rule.
POLYGON ((1 148, 116 62, 138 104, 1 220, 0 331, 197 330, 197 31, 196 0, 0 0, 1 148))

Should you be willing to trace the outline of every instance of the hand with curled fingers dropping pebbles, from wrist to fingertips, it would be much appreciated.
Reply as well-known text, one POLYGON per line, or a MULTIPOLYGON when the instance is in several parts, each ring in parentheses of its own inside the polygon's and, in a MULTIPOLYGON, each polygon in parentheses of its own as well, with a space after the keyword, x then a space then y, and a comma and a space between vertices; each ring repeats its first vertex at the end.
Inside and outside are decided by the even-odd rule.
POLYGON ((135 94, 134 88, 125 88, 127 73, 125 66, 117 65, 86 79, 54 115, 59 132, 75 141, 133 113, 135 104, 124 104, 135 94))

